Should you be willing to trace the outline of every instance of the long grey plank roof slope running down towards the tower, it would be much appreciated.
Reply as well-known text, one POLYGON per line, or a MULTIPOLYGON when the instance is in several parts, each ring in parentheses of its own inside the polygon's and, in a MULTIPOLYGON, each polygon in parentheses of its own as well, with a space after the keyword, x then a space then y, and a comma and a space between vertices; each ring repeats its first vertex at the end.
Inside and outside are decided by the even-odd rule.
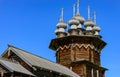
MULTIPOLYGON (((74 73, 73 71, 71 71, 70 69, 66 68, 63 65, 54 63, 50 60, 34 55, 32 53, 29 53, 25 50, 16 48, 11 45, 9 45, 8 49, 14 52, 17 56, 19 56, 23 61, 25 61, 30 66, 44 68, 44 69, 54 71, 54 72, 57 72, 63 75, 70 76, 70 77, 79 77, 79 75, 77 75, 76 73, 74 73)), ((6 52, 4 52, 2 55, 4 55, 5 53, 6 52)))

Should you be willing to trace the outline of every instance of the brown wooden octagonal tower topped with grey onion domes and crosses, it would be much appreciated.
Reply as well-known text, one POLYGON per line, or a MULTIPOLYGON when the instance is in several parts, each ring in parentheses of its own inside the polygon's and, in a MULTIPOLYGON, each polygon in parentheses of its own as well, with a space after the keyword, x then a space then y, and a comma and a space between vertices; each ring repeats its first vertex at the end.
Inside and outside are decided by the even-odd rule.
POLYGON ((107 69, 101 66, 100 55, 106 43, 99 35, 100 27, 96 24, 96 13, 94 12, 92 21, 88 6, 88 19, 85 21, 79 12, 79 3, 77 0, 77 5, 73 6, 73 17, 68 23, 63 20, 62 9, 55 30, 56 38, 51 40, 49 48, 56 51, 57 63, 68 67, 80 77, 105 77, 107 69), (67 25, 70 29, 65 30, 67 25))

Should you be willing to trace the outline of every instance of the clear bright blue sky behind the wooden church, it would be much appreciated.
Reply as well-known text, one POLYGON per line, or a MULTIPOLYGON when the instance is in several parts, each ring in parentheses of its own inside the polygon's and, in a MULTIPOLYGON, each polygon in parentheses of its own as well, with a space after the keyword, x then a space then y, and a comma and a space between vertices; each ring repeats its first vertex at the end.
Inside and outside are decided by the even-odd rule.
MULTIPOLYGON (((55 51, 48 48, 64 8, 64 20, 72 17, 76 0, 0 0, 0 54, 7 44, 55 61, 55 51)), ((81 0, 80 13, 87 19, 87 6, 97 12, 97 24, 108 45, 102 50, 101 63, 107 77, 120 71, 120 0, 81 0)))

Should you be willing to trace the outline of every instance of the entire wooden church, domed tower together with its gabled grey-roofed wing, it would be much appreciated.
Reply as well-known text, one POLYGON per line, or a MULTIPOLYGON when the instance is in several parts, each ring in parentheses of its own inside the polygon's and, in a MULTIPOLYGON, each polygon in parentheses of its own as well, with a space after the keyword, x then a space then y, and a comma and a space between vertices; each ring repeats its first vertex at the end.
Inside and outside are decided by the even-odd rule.
POLYGON ((56 63, 23 49, 8 45, 0 57, 0 77, 105 77, 101 66, 101 50, 106 43, 99 35, 100 27, 90 16, 79 12, 79 0, 73 6, 73 17, 65 23, 63 9, 55 30, 56 38, 49 48, 56 51, 56 63), (70 27, 66 30, 67 25, 70 27))

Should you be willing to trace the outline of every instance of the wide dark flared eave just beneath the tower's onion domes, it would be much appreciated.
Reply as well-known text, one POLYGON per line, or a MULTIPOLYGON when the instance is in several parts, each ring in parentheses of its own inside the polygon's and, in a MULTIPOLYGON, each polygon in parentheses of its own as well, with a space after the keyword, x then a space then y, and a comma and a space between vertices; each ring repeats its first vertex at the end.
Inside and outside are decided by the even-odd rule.
POLYGON ((59 46, 68 45, 68 44, 93 44, 97 49, 102 49, 107 44, 102 39, 97 36, 77 36, 71 35, 62 38, 52 39, 49 48, 53 50, 57 50, 59 46))

